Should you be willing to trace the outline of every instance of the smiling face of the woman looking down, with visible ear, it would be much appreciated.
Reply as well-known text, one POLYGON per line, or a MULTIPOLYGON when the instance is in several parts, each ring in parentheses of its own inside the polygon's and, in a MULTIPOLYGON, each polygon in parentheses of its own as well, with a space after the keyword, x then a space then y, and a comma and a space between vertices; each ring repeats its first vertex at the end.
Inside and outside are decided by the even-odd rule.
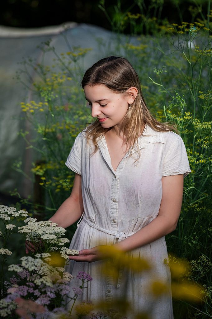
MULTIPOLYGON (((130 93, 130 89, 127 92, 130 93)), ((132 104, 134 101, 132 96, 114 93, 103 84, 85 85, 84 93, 85 99, 91 106, 91 115, 97 117, 104 128, 116 127, 121 124, 129 110, 128 104, 132 104)))

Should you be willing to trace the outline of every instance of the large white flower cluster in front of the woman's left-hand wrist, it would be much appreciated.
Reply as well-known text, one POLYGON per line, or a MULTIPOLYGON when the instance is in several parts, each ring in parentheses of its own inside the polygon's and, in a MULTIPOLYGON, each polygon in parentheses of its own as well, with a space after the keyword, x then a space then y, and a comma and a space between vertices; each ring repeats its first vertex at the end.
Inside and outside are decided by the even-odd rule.
POLYGON ((26 226, 18 227, 18 232, 23 233, 26 240, 39 242, 41 239, 48 244, 60 246, 69 242, 67 238, 62 237, 66 230, 63 227, 57 227, 57 224, 50 220, 37 221, 36 218, 27 218, 25 223, 27 223, 26 226))

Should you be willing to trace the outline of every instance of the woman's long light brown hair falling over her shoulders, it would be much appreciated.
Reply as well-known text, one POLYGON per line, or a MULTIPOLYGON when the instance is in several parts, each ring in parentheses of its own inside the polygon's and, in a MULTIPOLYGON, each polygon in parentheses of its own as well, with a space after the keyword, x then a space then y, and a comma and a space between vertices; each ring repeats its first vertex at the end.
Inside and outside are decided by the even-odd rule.
MULTIPOLYGON (((171 124, 158 122, 151 115, 141 91, 139 77, 129 61, 123 57, 109 56, 99 60, 85 72, 81 84, 83 88, 85 85, 103 84, 113 92, 123 94, 130 94, 126 91, 132 86, 137 88, 138 94, 131 104, 130 112, 126 113, 119 128, 119 132, 123 132, 126 137, 125 144, 128 149, 136 145, 145 124, 155 131, 175 130, 171 124)), ((103 128, 97 119, 87 127, 86 137, 93 141, 94 153, 98 149, 98 137, 104 135, 108 130, 110 128, 103 128)))

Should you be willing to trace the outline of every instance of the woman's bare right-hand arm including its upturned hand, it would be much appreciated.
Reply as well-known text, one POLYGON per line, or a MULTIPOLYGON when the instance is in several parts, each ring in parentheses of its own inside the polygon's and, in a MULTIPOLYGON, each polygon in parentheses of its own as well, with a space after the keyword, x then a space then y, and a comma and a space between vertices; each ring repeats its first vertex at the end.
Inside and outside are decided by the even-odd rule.
MULTIPOLYGON (((162 189, 163 195, 158 216, 132 236, 115 244, 114 247, 122 251, 129 251, 149 244, 176 228, 182 206, 183 174, 162 177, 162 189)), ((70 256, 70 259, 87 262, 101 259, 98 246, 81 250, 79 254, 80 256, 70 256)))

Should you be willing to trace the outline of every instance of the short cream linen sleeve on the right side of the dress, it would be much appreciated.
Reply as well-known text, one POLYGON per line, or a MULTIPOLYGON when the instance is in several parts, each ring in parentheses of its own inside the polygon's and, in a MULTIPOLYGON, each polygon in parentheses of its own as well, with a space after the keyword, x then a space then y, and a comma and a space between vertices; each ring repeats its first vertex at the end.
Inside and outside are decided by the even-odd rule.
POLYGON ((170 133, 170 140, 167 141, 170 146, 164 157, 162 176, 184 174, 186 177, 191 173, 186 147, 179 135, 170 133))

